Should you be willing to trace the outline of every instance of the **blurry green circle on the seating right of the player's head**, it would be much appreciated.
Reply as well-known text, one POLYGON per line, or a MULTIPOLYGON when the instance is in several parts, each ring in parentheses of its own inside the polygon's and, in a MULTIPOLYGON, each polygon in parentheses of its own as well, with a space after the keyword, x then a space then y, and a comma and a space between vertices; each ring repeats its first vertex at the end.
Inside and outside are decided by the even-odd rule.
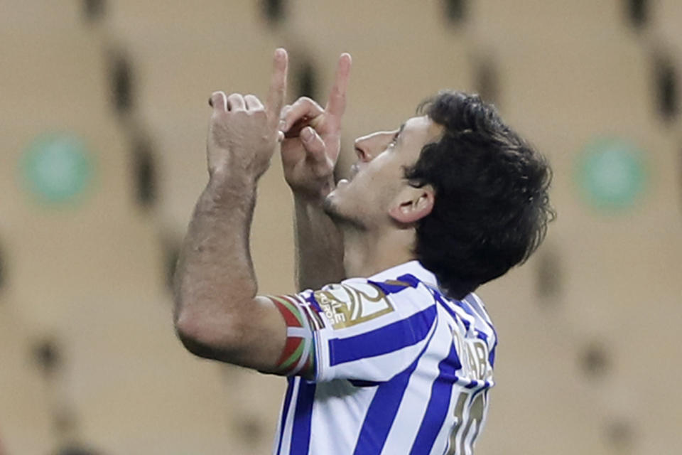
POLYGON ((644 153, 623 139, 596 139, 585 146, 577 175, 590 205, 607 210, 629 208, 644 190, 644 153))

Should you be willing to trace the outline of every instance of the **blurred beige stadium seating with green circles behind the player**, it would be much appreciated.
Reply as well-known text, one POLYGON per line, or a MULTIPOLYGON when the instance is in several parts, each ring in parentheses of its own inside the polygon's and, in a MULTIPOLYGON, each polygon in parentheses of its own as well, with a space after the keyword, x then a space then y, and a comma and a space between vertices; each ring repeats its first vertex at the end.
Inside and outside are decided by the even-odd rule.
MULTIPOLYGON (((681 1, 0 10, 0 454, 269 454, 284 381, 185 352, 168 284, 207 181, 207 98, 264 96, 280 45, 290 100, 325 102, 353 56, 342 174, 354 137, 445 87, 551 159, 546 242, 480 289, 501 343, 477 454, 680 453, 681 1)), ((275 160, 263 293, 293 291, 291 213, 275 160)))

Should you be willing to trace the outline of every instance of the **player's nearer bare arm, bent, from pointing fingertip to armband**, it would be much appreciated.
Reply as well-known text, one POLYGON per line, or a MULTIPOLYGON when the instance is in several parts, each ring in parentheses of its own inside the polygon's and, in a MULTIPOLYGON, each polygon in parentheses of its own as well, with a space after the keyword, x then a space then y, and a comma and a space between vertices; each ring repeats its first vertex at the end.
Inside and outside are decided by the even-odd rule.
POLYGON ((192 353, 278 372, 287 326, 257 296, 249 252, 256 183, 280 135, 287 56, 277 50, 266 107, 253 95, 215 92, 207 139, 209 182, 197 201, 175 272, 174 323, 192 353))

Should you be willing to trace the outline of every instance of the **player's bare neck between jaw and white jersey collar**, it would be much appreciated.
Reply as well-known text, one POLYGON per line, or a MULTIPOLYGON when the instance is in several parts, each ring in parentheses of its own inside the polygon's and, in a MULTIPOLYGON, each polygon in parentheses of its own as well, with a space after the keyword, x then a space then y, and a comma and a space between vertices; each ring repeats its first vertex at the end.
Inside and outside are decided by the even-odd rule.
POLYGON ((346 277, 371 277, 415 259, 412 252, 414 235, 412 229, 381 232, 351 227, 343 229, 346 277))

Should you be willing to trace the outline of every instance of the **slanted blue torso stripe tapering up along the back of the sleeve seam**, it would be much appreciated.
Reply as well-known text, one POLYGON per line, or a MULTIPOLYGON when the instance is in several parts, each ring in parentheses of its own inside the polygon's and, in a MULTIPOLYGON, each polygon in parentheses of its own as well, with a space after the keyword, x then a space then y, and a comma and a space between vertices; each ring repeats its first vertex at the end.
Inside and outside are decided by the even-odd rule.
MULTIPOLYGON (((433 336, 433 334, 431 335, 433 336)), ((424 345, 421 353, 417 355, 412 365, 402 373, 394 376, 389 382, 384 382, 377 387, 372 402, 369 403, 367 414, 364 415, 362 428, 357 437, 357 444, 353 455, 377 455, 386 444, 386 437, 389 436, 391 425, 396 419, 396 414, 400 403, 405 395, 410 376, 417 368, 417 363, 421 360, 421 355, 426 351, 424 345)))

